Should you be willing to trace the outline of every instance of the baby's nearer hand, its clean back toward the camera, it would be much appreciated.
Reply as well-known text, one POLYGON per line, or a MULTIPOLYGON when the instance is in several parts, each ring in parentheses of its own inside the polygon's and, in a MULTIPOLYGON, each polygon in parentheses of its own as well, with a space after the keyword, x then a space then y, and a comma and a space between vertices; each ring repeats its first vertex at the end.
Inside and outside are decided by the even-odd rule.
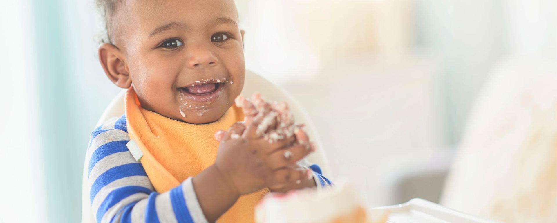
POLYGON ((241 123, 216 135, 221 139, 214 166, 233 191, 239 195, 269 186, 287 185, 292 179, 306 176, 306 169, 289 168, 311 152, 307 146, 289 146, 294 136, 268 143, 263 137, 244 137, 247 129, 241 123))

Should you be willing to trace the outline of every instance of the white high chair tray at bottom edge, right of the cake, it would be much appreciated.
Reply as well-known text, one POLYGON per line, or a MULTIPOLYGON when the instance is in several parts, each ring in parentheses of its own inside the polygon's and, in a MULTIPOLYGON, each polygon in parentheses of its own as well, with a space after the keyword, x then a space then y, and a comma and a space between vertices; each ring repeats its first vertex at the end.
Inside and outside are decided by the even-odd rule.
POLYGON ((388 214, 388 223, 497 223, 463 214, 422 198, 414 198, 400 205, 377 207, 369 210, 372 219, 388 214))

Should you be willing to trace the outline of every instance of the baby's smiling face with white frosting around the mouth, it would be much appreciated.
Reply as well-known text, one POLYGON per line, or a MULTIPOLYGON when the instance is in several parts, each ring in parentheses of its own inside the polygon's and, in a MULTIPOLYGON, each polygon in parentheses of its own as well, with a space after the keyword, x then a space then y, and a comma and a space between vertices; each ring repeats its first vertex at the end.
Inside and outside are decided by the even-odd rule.
POLYGON ((118 10, 115 45, 141 106, 194 124, 222 117, 245 76, 234 2, 136 0, 118 10))

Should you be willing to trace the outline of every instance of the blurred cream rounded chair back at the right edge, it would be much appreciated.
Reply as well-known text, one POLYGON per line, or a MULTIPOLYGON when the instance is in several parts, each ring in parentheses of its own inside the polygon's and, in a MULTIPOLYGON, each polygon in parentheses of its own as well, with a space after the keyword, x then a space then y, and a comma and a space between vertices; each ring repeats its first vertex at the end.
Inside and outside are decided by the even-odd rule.
POLYGON ((476 101, 442 205, 502 222, 557 220, 557 62, 506 59, 476 101))

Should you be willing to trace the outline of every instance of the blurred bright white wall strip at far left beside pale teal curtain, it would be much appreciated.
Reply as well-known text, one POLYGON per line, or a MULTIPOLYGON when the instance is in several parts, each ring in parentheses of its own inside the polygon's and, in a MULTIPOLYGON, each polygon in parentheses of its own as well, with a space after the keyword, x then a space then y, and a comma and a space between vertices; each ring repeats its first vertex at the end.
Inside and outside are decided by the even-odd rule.
POLYGON ((0 2, 0 222, 42 222, 46 216, 28 10, 29 1, 0 2))

